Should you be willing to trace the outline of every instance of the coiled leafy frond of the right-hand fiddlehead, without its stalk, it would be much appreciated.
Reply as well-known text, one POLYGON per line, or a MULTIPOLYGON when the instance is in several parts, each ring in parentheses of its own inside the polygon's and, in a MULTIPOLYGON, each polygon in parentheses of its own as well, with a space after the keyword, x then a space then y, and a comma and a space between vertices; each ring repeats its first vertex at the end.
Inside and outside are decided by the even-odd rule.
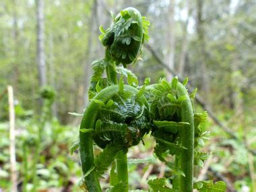
MULTIPOLYGON (((178 83, 177 77, 174 77, 172 82, 160 79, 158 84, 150 90, 151 114, 154 119, 152 135, 157 143, 154 153, 163 162, 167 162, 166 154, 179 155, 179 152, 184 149, 179 138, 181 129, 189 125, 187 122, 181 122, 181 102, 186 99, 186 96, 178 94, 178 83)), ((168 166, 174 167, 170 162, 168 166)))

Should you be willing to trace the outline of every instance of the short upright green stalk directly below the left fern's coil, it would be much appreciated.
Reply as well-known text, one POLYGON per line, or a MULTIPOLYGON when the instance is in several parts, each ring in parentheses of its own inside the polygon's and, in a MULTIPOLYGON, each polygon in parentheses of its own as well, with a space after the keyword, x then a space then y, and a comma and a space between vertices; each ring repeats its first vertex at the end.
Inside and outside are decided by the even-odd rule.
POLYGON ((117 179, 123 181, 123 183, 127 184, 125 187, 125 191, 129 191, 128 185, 128 169, 127 169, 127 154, 123 152, 118 152, 116 155, 117 160, 117 179))

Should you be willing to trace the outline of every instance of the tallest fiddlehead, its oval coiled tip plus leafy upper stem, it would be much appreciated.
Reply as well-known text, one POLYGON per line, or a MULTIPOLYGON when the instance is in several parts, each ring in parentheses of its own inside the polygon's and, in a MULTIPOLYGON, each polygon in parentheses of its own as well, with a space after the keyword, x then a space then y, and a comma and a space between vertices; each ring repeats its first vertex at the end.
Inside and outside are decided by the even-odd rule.
POLYGON ((126 67, 137 61, 143 43, 148 41, 149 25, 150 22, 145 17, 141 17, 137 9, 128 7, 113 18, 113 23, 107 30, 100 27, 102 34, 99 39, 106 51, 104 58, 92 63, 94 73, 90 79, 90 98, 96 94, 97 83, 102 87, 110 85, 110 82, 118 83, 116 65, 122 63, 126 67), (107 79, 102 79, 104 71, 106 71, 107 79))

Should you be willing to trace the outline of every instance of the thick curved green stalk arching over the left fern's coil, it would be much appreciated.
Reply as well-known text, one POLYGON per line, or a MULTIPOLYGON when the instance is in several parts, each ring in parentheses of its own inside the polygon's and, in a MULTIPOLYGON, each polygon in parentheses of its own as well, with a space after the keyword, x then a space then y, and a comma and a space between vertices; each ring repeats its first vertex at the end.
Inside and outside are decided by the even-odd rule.
MULTIPOLYGON (((129 92, 132 92, 133 94, 136 94, 138 92, 137 89, 131 86, 124 86, 124 89, 129 92)), ((94 99, 101 100, 102 102, 106 103, 108 100, 110 100, 110 98, 113 98, 113 96, 118 94, 118 92, 119 92, 119 86, 109 86, 107 88, 104 88, 104 90, 100 91, 95 96, 94 99)), ((141 102, 145 104, 148 103, 146 98, 141 97, 140 99, 141 99, 141 102)), ((99 110, 100 108, 98 107, 98 104, 96 102, 93 102, 92 100, 88 105, 88 107, 86 108, 86 111, 84 112, 84 117, 82 119, 80 129, 94 129, 99 110)), ((92 170, 92 168, 94 168, 92 135, 90 132, 83 133, 82 131, 80 131, 79 138, 80 138, 79 153, 80 153, 80 159, 82 164, 82 170, 84 174, 87 174, 87 176, 84 178, 84 185, 86 189, 90 192, 100 192, 101 189, 100 189, 100 183, 98 181, 98 175, 95 169, 92 170)), ((119 170, 117 170, 117 172, 119 170)), ((121 172, 119 174, 121 174, 121 172)))

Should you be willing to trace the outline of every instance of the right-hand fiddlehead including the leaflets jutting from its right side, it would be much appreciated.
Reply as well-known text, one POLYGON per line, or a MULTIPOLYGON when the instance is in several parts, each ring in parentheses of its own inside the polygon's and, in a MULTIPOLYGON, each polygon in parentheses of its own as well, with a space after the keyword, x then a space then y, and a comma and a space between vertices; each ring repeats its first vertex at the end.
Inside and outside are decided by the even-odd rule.
MULTIPOLYGON (((160 79, 158 84, 148 86, 147 98, 150 101, 154 123, 152 135, 156 139, 154 153, 173 170, 174 191, 193 191, 193 187, 212 189, 214 184, 209 187, 203 184, 204 181, 193 183, 193 165, 203 167, 203 161, 211 153, 197 151, 197 148, 203 147, 203 140, 209 135, 209 132, 203 132, 200 126, 206 121, 207 113, 194 113, 193 99, 197 89, 189 95, 185 88, 186 84, 187 79, 181 84, 178 78, 174 77, 172 82, 160 79), (168 155, 175 156, 174 163, 167 160, 168 155), (199 187, 198 183, 200 183, 199 187)), ((150 181, 149 185, 153 186, 152 189, 156 187, 155 185, 161 189, 159 186, 163 185, 164 181, 160 185, 158 181, 150 181)), ((220 185, 221 191, 226 189, 223 182, 220 185)))

